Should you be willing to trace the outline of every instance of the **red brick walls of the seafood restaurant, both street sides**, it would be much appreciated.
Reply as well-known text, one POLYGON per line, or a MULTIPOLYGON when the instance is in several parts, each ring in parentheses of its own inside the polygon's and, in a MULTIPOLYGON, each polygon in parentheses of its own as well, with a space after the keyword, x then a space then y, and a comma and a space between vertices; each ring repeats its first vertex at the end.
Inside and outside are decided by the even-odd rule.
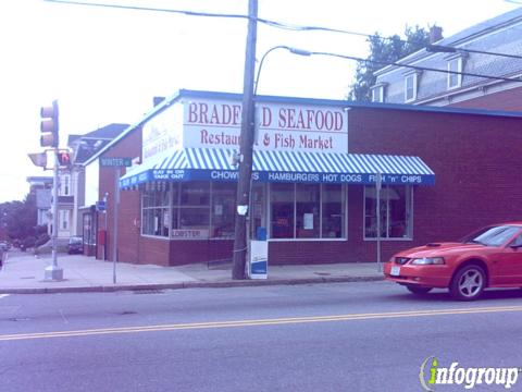
MULTIPOLYGON (((522 220, 522 119, 370 107, 352 108, 348 118, 349 152, 419 156, 436 174, 435 186, 414 189, 413 240, 383 241, 383 260, 414 245, 458 240, 484 224, 522 220)), ((138 156, 140 145, 136 132, 105 156, 138 156)), ((112 188, 113 175, 113 169, 100 170, 100 197, 112 188)), ((139 236, 139 193, 121 195, 120 260, 173 266, 232 258, 232 241, 139 236)), ((375 261, 375 241, 363 240, 361 185, 348 186, 347 210, 347 241, 273 241, 270 264, 375 261)), ((111 212, 108 218, 112 222, 111 212)))

